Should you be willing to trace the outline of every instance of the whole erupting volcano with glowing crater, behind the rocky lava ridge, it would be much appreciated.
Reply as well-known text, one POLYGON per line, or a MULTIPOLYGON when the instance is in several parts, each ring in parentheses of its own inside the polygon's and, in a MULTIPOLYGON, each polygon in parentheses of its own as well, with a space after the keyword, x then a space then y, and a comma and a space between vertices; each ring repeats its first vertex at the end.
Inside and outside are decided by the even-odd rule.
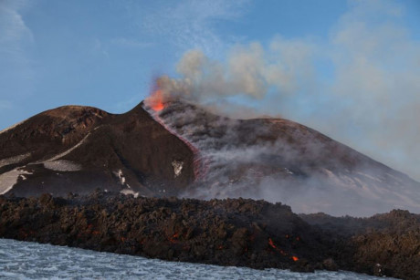
POLYGON ((295 212, 420 213, 420 183, 287 119, 229 119, 181 99, 125 114, 66 106, 0 133, 0 194, 247 197, 295 212))

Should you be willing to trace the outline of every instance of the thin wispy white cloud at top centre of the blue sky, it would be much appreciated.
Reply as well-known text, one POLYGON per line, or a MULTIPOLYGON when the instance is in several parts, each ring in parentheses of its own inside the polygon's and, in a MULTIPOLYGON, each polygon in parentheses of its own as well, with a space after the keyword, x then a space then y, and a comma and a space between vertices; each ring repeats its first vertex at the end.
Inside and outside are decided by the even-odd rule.
POLYGON ((236 20, 245 13, 247 0, 182 1, 159 8, 142 16, 142 29, 153 36, 164 36, 182 50, 200 48, 214 54, 226 46, 226 38, 216 31, 216 20, 236 20))

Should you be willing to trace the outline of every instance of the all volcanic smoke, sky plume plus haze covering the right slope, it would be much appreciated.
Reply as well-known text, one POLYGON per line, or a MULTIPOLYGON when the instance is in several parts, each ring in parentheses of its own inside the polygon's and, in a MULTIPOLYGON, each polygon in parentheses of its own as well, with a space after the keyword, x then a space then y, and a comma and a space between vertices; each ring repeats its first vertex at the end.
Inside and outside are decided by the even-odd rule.
POLYGON ((419 180, 420 44, 398 24, 401 13, 356 2, 327 42, 276 36, 232 47, 223 61, 187 51, 179 77, 158 87, 164 99, 195 105, 172 100, 156 112, 202 153, 205 177, 184 195, 265 199, 304 213, 419 213, 420 184, 404 174, 293 122, 235 119, 281 114, 419 180))

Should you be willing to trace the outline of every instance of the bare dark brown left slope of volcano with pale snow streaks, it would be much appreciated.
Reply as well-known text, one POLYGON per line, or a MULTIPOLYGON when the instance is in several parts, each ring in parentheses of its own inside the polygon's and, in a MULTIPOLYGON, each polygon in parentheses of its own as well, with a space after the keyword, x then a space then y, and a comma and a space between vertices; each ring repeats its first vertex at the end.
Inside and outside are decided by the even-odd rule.
POLYGON ((66 106, 0 133, 0 194, 173 193, 194 180, 193 157, 141 105, 121 115, 66 106))

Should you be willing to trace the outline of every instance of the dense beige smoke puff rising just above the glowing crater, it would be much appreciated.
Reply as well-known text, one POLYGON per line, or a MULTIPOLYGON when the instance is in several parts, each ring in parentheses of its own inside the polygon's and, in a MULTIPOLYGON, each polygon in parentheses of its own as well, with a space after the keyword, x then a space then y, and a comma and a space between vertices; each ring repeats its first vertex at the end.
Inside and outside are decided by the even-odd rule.
POLYGON ((280 39, 276 39, 272 43, 270 52, 257 42, 233 47, 226 63, 212 60, 198 49, 189 50, 176 67, 181 78, 162 77, 158 84, 166 96, 182 96, 199 102, 236 95, 264 99, 268 89, 273 87, 279 92, 291 92, 299 88, 299 76, 305 75, 300 72, 301 68, 310 68, 304 61, 310 48, 295 43, 283 46, 279 42, 280 39), (293 53, 296 47, 299 55, 293 53), (279 52, 290 57, 269 59, 279 52))

